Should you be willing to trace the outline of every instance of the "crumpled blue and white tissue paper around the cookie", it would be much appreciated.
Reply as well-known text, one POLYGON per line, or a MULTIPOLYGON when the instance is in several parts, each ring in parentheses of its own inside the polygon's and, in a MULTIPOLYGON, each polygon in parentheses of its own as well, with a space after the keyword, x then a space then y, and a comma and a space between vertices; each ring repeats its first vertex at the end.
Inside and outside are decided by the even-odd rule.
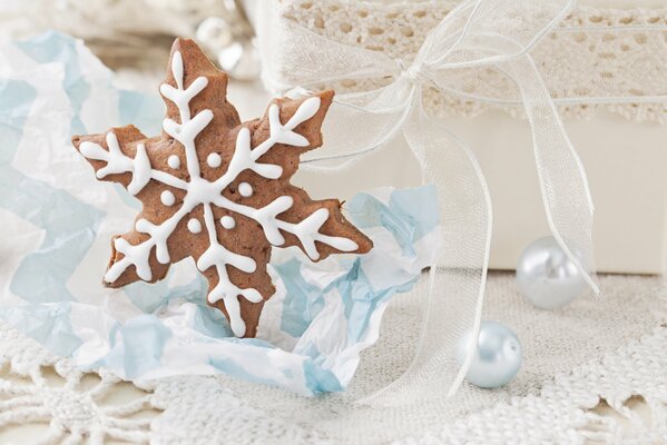
POLYGON ((157 93, 111 80, 68 36, 0 43, 0 319, 81 368, 128 379, 225 373, 303 395, 345 388, 390 298, 438 248, 435 190, 380 189, 346 202, 373 239, 367 255, 313 264, 274 249, 277 291, 257 338, 234 338, 192 260, 155 285, 101 285, 111 236, 130 228, 139 202, 96 181, 70 137, 126 123, 155 135, 164 112, 157 93))

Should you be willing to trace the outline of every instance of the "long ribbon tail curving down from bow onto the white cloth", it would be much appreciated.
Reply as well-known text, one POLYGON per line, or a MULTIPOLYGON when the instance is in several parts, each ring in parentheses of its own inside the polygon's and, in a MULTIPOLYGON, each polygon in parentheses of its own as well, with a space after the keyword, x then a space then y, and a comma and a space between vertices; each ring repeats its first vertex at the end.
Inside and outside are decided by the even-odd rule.
POLYGON ((487 281, 491 199, 474 156, 425 115, 419 99, 404 135, 421 164, 423 182, 438 187, 441 245, 428 270, 416 355, 399 379, 360 400, 366 404, 423 403, 454 394, 472 359, 474 342, 464 338, 478 336, 487 281))

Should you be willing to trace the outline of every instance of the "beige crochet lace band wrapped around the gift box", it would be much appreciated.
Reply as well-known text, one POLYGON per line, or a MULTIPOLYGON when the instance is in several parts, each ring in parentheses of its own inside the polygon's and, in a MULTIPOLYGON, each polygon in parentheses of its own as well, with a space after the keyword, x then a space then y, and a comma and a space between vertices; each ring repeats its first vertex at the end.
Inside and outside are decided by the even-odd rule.
MULTIPOLYGON (((282 0, 282 20, 334 41, 411 60, 428 32, 457 1, 282 0)), ((597 9, 579 6, 532 51, 551 96, 568 118, 590 118, 599 108, 640 121, 667 120, 667 9, 597 9), (624 102, 618 98, 637 98, 624 102), (650 98, 659 97, 659 100, 650 98), (617 100, 615 100, 616 98, 617 100)), ((285 67, 286 70, 290 67, 285 67)), ((467 96, 431 89, 426 106, 437 115, 475 116, 489 109, 522 116, 516 87, 497 70, 461 70, 467 96)), ((391 79, 323 85, 336 91, 377 88, 391 79)))

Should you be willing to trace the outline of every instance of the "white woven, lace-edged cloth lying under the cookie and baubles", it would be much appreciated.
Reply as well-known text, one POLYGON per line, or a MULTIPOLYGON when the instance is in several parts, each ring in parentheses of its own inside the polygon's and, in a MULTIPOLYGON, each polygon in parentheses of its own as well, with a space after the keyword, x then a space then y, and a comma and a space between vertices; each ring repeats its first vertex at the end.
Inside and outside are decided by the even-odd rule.
POLYGON ((129 384, 104 369, 81 373, 0 326, 0 437, 17 425, 43 423, 45 444, 667 441, 665 283, 606 276, 601 285, 602 300, 581 297, 541 312, 516 293, 513 275, 491 274, 484 318, 519 335, 524 360, 516 379, 496 390, 464 385, 449 399, 388 408, 354 400, 410 363, 421 319, 419 286, 394 298, 352 386, 317 398, 225 376, 183 376, 135 382, 134 397, 111 400, 118 385, 129 384), (637 405, 648 413, 639 416, 637 405))

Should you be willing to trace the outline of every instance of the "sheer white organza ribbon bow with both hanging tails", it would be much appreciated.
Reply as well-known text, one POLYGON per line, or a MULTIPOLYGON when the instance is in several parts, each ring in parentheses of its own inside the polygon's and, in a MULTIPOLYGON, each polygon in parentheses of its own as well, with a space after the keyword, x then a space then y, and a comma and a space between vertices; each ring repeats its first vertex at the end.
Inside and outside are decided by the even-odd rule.
MULTIPOLYGON (((274 2, 272 2, 274 3, 274 2)), ((499 70, 518 88, 532 130, 534 157, 551 231, 599 294, 592 260, 592 202, 586 172, 530 51, 573 8, 573 0, 468 0, 426 37, 409 63, 380 51, 351 47, 279 17, 263 3, 257 31, 264 80, 274 91, 304 89, 345 79, 386 78, 385 87, 335 97, 323 132, 324 157, 302 168, 340 170, 403 132, 419 160, 423 181, 435 184, 442 249, 430 269, 420 346, 409 370, 371 400, 401 393, 415 400, 432 388, 452 394, 467 373, 471 346, 457 353, 462 336, 480 324, 491 237, 491 201, 467 145, 428 116, 428 88, 461 90, 465 70, 499 70)), ((303 90, 302 90, 303 91, 303 90)), ((483 131, 483 128, 479 129, 483 131)), ((321 151, 321 150, 317 150, 321 151)))

